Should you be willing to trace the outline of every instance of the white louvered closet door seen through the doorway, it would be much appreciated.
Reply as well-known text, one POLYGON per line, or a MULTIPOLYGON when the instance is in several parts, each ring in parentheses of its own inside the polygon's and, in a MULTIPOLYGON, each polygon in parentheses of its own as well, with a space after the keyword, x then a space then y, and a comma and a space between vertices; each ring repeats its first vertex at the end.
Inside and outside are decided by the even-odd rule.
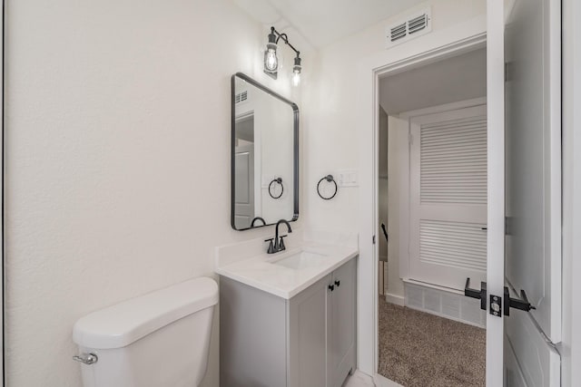
POLYGON ((486 105, 410 119, 409 277, 463 290, 487 270, 486 105))

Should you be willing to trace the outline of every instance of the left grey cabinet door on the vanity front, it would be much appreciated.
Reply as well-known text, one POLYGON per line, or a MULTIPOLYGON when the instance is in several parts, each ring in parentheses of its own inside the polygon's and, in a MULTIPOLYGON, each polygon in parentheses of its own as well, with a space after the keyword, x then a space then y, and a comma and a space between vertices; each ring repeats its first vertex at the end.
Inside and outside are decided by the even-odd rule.
POLYGON ((290 387, 327 385, 327 295, 330 281, 331 276, 325 276, 289 302, 290 387))

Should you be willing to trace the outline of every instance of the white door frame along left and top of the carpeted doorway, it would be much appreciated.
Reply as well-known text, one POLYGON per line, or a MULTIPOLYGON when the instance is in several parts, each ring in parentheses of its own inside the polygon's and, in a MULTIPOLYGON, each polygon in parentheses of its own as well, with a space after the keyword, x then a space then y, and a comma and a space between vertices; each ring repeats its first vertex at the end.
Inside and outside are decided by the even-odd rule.
POLYGON ((379 227, 379 77, 400 73, 447 57, 468 53, 487 44, 487 17, 426 34, 415 44, 400 44, 359 62, 357 111, 359 127, 359 267, 358 267, 358 368, 378 385, 389 385, 377 373, 379 244, 373 240, 379 227), (371 151, 369 151, 371 150, 371 151))

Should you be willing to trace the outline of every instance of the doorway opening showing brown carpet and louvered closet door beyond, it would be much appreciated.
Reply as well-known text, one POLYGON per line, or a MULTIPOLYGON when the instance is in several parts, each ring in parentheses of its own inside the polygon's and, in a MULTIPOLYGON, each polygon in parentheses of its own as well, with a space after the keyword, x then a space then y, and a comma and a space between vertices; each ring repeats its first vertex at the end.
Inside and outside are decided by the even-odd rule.
POLYGON ((474 47, 379 76, 376 372, 403 386, 484 386, 487 55, 474 47))

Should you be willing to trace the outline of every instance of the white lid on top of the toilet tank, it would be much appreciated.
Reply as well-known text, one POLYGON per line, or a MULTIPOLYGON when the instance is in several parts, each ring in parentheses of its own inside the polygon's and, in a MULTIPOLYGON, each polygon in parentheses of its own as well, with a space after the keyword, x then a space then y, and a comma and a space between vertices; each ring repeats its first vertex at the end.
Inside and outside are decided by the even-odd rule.
POLYGON ((73 340, 86 348, 121 348, 217 303, 216 282, 194 278, 85 315, 74 324, 73 340))

